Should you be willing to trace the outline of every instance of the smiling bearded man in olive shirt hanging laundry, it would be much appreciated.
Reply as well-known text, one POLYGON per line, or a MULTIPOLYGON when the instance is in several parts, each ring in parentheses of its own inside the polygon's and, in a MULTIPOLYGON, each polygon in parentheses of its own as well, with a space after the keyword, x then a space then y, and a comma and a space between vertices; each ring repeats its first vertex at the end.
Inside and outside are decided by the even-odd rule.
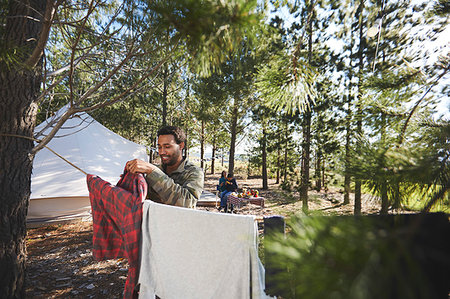
POLYGON ((147 198, 156 202, 194 208, 203 190, 203 171, 183 157, 186 134, 178 127, 165 126, 158 133, 161 166, 135 159, 126 169, 142 173, 148 183, 147 198))

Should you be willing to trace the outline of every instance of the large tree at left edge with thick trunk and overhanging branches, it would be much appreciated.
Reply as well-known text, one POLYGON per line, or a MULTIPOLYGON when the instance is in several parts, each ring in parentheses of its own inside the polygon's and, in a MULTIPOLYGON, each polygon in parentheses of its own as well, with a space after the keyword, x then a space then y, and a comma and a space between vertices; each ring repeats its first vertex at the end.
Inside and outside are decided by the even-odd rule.
POLYGON ((173 28, 169 43, 182 43, 192 57, 190 66, 206 73, 211 65, 224 60, 224 49, 225 52, 233 49, 242 40, 246 28, 258 23, 258 17, 254 14, 255 1, 236 1, 232 4, 154 1, 151 7, 141 2, 140 7, 145 13, 137 15, 142 17, 139 24, 145 26, 133 27, 133 34, 128 34, 130 23, 121 19, 126 16, 123 12, 125 6, 119 5, 117 9, 112 9, 112 13, 103 15, 95 22, 94 13, 110 9, 103 4, 95 0, 77 3, 76 6, 72 3, 66 6, 56 0, 13 0, 0 6, 0 293, 3 297, 24 297, 26 213, 33 157, 65 120, 76 112, 101 108, 137 92, 140 84, 154 74, 166 58, 139 70, 139 78, 113 99, 102 98, 102 92, 108 90, 108 84, 116 74, 133 70, 134 59, 150 52, 144 45, 149 45, 159 29, 173 28), (198 22, 199 17, 203 22, 198 22), (47 78, 43 72, 44 51, 51 29, 57 28, 55 18, 58 18, 59 26, 66 26, 67 32, 74 31, 75 34, 70 39, 70 56, 65 57, 67 68, 55 70, 55 74, 60 75, 59 79, 51 85, 44 84, 45 89, 41 93, 41 84, 47 78), (111 26, 113 23, 117 27, 111 26), (96 38, 85 39, 88 33, 92 33, 90 25, 95 24, 99 31, 93 34, 96 38), (158 26, 154 26, 156 24, 158 26), (124 52, 117 56, 96 52, 102 43, 121 40, 124 41, 124 52), (85 41, 90 42, 88 47, 83 45, 85 41), (110 62, 108 71, 104 76, 93 77, 94 84, 87 90, 77 89, 74 76, 77 67, 85 61, 86 64, 82 65, 89 68, 87 60, 95 58, 110 62), (55 129, 34 146, 33 131, 38 104, 58 84, 66 86, 65 102, 71 103, 71 106, 58 120, 55 129))

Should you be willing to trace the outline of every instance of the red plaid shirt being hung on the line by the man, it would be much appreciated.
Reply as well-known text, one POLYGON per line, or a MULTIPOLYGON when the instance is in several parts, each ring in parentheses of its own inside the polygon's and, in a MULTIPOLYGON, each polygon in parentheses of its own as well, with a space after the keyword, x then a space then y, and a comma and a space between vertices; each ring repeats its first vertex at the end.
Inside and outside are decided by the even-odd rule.
POLYGON ((134 287, 139 273, 142 202, 147 183, 141 174, 125 173, 116 186, 87 175, 92 206, 93 250, 96 260, 128 259, 123 298, 137 298, 134 287))

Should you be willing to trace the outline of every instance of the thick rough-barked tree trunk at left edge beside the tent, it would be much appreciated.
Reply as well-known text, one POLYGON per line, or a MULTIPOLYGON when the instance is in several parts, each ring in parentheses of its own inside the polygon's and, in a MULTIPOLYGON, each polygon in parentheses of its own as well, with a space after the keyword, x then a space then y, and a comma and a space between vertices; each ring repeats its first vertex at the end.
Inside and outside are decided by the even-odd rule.
POLYGON ((21 63, 37 46, 46 1, 10 1, 8 8, 9 17, 0 39, 10 48, 19 49, 15 55, 19 63, 6 65, 5 60, 0 60, 0 296, 24 298, 33 142, 1 134, 33 137, 37 113, 34 101, 42 82, 42 60, 37 54, 37 65, 21 63))

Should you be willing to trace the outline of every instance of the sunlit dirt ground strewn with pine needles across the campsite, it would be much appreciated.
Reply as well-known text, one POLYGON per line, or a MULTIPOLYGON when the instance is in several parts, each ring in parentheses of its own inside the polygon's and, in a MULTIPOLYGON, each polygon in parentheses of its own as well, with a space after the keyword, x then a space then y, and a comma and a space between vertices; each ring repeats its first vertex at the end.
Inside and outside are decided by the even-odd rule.
MULTIPOLYGON (((214 191, 217 175, 207 175, 205 190, 214 191)), ((274 180, 269 190, 261 190, 260 178, 242 180, 239 187, 258 189, 265 198, 265 207, 248 204, 235 211, 259 216, 290 216, 300 213, 298 193, 283 192, 274 180)), ((343 205, 339 190, 309 192, 309 210, 326 215, 353 213, 353 200, 343 205)), ((218 213, 215 207, 198 209, 218 213)), ((362 199, 362 213, 379 211, 379 204, 368 196, 362 199)), ((26 298, 122 298, 127 276, 126 259, 94 261, 92 257, 92 220, 52 224, 28 229, 26 298)))

